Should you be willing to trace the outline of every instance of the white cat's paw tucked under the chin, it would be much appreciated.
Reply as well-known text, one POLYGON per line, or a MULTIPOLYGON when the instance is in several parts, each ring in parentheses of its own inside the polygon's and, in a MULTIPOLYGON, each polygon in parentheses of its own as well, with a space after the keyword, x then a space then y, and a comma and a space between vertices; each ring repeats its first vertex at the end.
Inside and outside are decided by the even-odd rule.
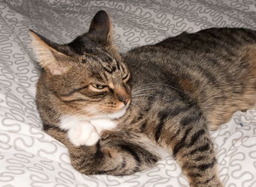
POLYGON ((68 130, 68 138, 76 146, 90 146, 96 144, 99 135, 91 123, 80 121, 73 128, 68 130))

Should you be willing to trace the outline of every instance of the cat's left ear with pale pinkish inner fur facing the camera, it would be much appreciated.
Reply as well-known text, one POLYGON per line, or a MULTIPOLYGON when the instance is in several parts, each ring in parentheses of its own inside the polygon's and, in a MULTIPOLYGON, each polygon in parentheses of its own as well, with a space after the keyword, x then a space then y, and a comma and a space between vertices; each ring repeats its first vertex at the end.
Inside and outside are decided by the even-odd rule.
POLYGON ((69 68, 69 65, 65 63, 65 59, 68 57, 66 54, 56 50, 60 46, 40 34, 37 34, 33 30, 29 31, 32 36, 31 44, 33 46, 33 51, 36 53, 39 65, 52 75, 65 73, 69 68))

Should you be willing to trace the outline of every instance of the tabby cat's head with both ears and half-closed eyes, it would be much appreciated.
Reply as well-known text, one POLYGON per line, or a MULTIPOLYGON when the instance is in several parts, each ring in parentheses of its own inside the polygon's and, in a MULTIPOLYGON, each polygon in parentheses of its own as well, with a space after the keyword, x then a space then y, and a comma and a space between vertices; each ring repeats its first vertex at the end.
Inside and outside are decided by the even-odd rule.
MULTIPOLYGON (((89 32, 68 44, 56 44, 31 30, 32 45, 43 68, 41 82, 66 115, 119 118, 130 104, 130 73, 111 42, 105 11, 89 32)), ((40 97, 40 96, 39 96, 40 97)))

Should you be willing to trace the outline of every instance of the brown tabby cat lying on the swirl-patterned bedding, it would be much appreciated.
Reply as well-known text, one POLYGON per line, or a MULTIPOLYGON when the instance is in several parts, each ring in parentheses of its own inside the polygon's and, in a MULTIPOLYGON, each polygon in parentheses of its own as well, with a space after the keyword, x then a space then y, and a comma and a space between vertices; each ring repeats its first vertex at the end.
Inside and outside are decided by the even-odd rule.
POLYGON ((190 186, 222 186, 209 130, 255 107, 254 30, 184 32, 119 54, 110 18, 99 11, 89 32, 71 43, 32 35, 42 67, 36 103, 43 128, 68 147, 76 170, 130 175, 156 165, 165 149, 190 186), (65 116, 74 118, 71 126, 80 119, 101 125, 99 137, 76 146, 72 127, 61 127, 65 116), (112 126, 104 129, 104 120, 112 126))

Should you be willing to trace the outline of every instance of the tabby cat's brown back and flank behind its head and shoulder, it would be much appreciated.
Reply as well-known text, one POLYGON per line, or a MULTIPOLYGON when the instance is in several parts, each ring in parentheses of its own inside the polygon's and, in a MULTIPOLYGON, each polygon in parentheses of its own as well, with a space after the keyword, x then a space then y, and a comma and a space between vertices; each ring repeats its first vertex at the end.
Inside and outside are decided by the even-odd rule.
POLYGON ((182 33, 154 45, 130 50, 126 61, 134 86, 159 83, 183 90, 215 124, 237 110, 255 106, 256 32, 210 28, 182 33), (247 100, 246 100, 247 99, 247 100), (235 102, 234 102, 235 101, 235 102))

